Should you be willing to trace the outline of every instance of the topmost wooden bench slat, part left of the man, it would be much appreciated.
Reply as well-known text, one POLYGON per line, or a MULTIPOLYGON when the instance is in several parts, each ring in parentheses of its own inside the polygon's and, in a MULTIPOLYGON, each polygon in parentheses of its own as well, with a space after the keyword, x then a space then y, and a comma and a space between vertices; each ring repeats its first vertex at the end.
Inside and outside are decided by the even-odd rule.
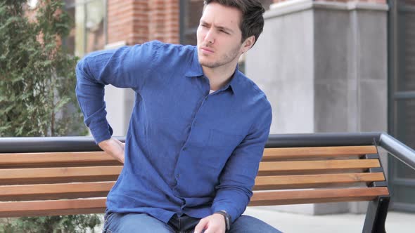
POLYGON ((110 157, 106 152, 49 152, 49 153, 14 153, 0 154, 0 168, 41 167, 60 164, 86 164, 94 166, 121 165, 119 161, 110 157))

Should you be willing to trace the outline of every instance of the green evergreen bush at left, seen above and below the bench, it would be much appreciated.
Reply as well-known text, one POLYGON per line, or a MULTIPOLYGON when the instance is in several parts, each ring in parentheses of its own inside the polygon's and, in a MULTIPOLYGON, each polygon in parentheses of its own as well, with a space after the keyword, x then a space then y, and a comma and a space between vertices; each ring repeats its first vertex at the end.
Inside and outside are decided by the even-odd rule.
MULTIPOLYGON (((63 1, 0 1, 0 137, 85 135, 75 98, 77 59, 60 46, 72 21, 63 1)), ((98 215, 0 220, 0 232, 87 232, 98 215)))

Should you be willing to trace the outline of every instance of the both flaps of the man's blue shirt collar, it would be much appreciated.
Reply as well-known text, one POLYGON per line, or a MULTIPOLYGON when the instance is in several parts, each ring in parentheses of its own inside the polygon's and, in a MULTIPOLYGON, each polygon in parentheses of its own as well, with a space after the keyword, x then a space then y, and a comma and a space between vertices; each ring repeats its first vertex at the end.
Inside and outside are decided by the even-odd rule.
MULTIPOLYGON (((236 89, 238 89, 238 86, 240 85, 239 82, 241 80, 241 76, 243 75, 238 70, 239 65, 236 65, 236 69, 234 72, 234 75, 232 76, 231 81, 229 84, 226 84, 221 90, 227 90, 228 88, 232 91, 232 93, 236 93, 236 89)), ((198 59, 198 49, 196 46, 194 46, 193 49, 193 59, 191 60, 189 64, 189 68, 187 69, 187 72, 185 74, 188 77, 200 77, 203 76, 203 69, 202 66, 199 63, 198 59)))

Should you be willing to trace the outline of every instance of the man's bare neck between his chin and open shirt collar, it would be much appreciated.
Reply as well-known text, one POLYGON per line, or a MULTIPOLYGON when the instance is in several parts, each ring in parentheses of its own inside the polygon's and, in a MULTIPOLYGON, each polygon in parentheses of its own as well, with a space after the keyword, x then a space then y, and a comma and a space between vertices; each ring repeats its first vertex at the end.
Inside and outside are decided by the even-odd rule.
POLYGON ((231 80, 235 72, 236 64, 226 67, 209 68, 202 66, 203 74, 208 77, 210 83, 210 90, 217 91, 231 80))

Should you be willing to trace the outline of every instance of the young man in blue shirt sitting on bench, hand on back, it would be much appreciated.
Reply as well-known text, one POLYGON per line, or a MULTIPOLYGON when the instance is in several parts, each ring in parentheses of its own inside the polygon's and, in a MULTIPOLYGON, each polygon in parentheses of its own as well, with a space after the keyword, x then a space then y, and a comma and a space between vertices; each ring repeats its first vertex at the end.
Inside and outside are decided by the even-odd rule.
POLYGON ((79 62, 85 124, 124 163, 104 232, 279 232, 241 216, 272 119, 264 93, 237 67, 262 32, 262 13, 255 0, 205 1, 197 47, 152 41, 79 62), (111 138, 106 84, 136 92, 125 144, 111 138))

